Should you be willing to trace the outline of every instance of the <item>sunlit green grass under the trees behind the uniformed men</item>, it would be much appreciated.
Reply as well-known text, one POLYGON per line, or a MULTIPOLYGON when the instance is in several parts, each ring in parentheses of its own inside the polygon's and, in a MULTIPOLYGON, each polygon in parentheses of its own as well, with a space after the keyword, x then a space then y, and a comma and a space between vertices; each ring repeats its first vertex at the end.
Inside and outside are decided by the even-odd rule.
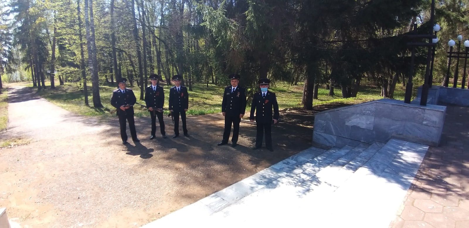
MULTIPOLYGON (((46 82, 48 86, 50 82, 46 82)), ((56 85, 59 83, 56 82, 56 85)), ((30 84, 31 85, 31 84, 30 84)), ((76 83, 67 83, 62 86, 57 86, 56 90, 42 90, 39 92, 45 99, 51 101, 53 104, 60 106, 70 112, 82 114, 86 116, 103 116, 111 117, 115 114, 110 114, 109 111, 113 110, 114 107, 110 104, 112 91, 117 87, 112 85, 100 85, 99 92, 101 97, 101 103, 104 108, 94 108, 92 103, 91 86, 88 87, 89 92, 89 103, 91 107, 84 106, 84 97, 81 91, 81 86, 76 83)), ((139 100, 140 91, 139 88, 128 86, 133 89, 137 97, 137 102, 144 105, 143 100, 139 100)), ((168 113, 168 97, 169 88, 163 86, 165 90, 165 113, 168 113)), ((189 115, 200 115, 200 114, 211 114, 221 112, 221 101, 223 99, 222 94, 224 86, 217 86, 209 84, 208 88, 206 84, 195 84, 193 85, 193 91, 189 91, 189 115)), ((301 99, 303 94, 303 84, 290 85, 287 83, 277 82, 274 87, 269 90, 277 94, 280 109, 302 107, 301 99)), ((326 104, 357 104, 366 101, 381 99, 380 88, 374 86, 360 86, 360 90, 356 98, 343 99, 341 96, 340 88, 335 89, 336 96, 329 96, 329 90, 319 88, 318 99, 314 99, 313 105, 326 105, 326 104)), ((402 84, 396 85, 394 92, 395 99, 404 99, 405 87, 402 84)), ((250 104, 248 103, 247 113, 250 110, 250 104)), ((135 115, 138 117, 149 116, 149 112, 146 109, 135 108, 135 115)))

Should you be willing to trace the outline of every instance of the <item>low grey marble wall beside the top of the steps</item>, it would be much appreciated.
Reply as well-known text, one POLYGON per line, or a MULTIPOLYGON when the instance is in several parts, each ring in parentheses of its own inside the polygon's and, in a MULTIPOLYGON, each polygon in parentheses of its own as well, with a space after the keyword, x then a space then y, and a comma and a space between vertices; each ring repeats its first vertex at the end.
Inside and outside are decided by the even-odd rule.
POLYGON ((446 107, 380 99, 315 115, 313 142, 327 146, 386 143, 391 138, 438 145, 446 107))

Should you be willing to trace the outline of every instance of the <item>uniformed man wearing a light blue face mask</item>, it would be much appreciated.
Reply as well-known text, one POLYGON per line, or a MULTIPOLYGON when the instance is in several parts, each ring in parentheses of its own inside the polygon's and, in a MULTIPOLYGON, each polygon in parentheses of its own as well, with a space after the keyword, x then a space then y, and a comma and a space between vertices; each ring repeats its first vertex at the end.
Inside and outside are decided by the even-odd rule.
POLYGON ((257 150, 262 147, 262 137, 265 132, 265 147, 269 151, 273 151, 271 134, 272 120, 273 123, 277 123, 279 120, 279 105, 275 93, 268 91, 270 80, 261 78, 257 82, 261 91, 254 94, 249 117, 251 122, 254 122, 255 119, 257 125, 256 146, 252 149, 257 150), (254 117, 254 111, 256 111, 256 117, 254 117))

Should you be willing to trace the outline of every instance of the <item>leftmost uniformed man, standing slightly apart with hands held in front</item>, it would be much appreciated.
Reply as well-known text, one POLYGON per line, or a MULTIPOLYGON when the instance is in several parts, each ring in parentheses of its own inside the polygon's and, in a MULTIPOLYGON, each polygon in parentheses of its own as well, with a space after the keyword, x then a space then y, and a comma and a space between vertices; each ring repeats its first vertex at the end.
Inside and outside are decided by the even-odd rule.
POLYGON ((140 142, 137 138, 137 132, 134 122, 134 105, 137 101, 134 91, 127 89, 125 83, 127 79, 121 78, 117 81, 119 89, 113 91, 111 105, 117 108, 117 116, 119 116, 119 124, 121 125, 122 144, 128 144, 126 133, 126 120, 129 122, 130 135, 134 142, 140 142))

